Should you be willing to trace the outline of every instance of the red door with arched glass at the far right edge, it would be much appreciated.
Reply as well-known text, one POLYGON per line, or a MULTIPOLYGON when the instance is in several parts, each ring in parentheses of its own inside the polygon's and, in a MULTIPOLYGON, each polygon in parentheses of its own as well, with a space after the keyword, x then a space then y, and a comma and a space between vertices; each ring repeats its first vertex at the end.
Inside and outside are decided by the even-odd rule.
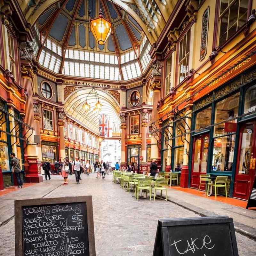
POLYGON ((237 152, 233 196, 248 199, 255 178, 256 121, 246 122, 241 126, 237 152))

